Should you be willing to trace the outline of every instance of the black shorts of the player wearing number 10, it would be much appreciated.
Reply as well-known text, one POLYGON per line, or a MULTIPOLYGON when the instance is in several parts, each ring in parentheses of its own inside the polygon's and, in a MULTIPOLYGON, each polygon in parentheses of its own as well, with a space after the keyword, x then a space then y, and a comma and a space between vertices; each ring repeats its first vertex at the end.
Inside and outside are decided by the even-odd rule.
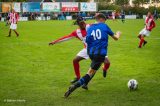
POLYGON ((98 70, 100 68, 101 64, 105 60, 105 56, 102 56, 102 55, 90 55, 89 57, 92 61, 91 68, 93 70, 98 70))

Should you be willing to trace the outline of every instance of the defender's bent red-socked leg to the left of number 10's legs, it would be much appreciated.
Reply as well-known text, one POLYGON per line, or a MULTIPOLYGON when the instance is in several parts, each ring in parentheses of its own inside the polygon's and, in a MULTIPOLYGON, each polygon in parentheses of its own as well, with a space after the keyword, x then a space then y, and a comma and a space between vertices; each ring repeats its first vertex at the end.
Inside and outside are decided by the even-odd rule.
POLYGON ((74 59, 73 59, 73 67, 74 67, 74 72, 75 72, 75 75, 76 75, 76 78, 74 78, 71 83, 75 83, 77 82, 81 76, 80 76, 80 66, 79 66, 79 62, 81 60, 84 60, 83 57, 80 57, 80 56, 76 56, 74 59))

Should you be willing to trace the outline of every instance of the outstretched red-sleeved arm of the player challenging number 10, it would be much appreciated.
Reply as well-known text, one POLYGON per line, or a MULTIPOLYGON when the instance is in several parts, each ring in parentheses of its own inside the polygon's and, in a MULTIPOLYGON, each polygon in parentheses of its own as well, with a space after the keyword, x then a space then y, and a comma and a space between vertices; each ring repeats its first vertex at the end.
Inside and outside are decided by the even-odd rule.
POLYGON ((50 42, 49 45, 54 45, 56 43, 64 42, 64 41, 70 40, 74 37, 76 37, 76 31, 72 32, 71 34, 69 34, 67 36, 63 36, 63 37, 61 37, 57 40, 54 40, 54 41, 50 42))

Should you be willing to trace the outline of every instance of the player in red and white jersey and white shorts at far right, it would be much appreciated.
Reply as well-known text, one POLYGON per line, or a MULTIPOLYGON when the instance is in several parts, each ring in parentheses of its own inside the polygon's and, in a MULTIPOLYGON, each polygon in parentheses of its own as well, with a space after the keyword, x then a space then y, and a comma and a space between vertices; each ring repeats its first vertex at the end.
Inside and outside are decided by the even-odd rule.
POLYGON ((147 41, 144 38, 150 35, 150 32, 154 27, 155 27, 154 19, 152 17, 151 12, 148 12, 147 17, 145 19, 145 28, 143 28, 138 35, 138 38, 140 39, 138 46, 139 48, 142 48, 142 44, 143 46, 147 44, 147 41))

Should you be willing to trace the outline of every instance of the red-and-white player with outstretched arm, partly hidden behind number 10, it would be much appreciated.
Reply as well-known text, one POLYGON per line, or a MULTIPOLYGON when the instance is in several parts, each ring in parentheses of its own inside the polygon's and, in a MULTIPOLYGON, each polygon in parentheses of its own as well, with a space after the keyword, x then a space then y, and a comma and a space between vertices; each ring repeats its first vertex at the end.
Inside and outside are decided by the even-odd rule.
MULTIPOLYGON (((79 26, 78 29, 76 29, 75 31, 73 31, 71 34, 69 34, 67 36, 61 37, 61 38, 49 43, 49 45, 54 45, 54 44, 69 40, 71 38, 78 38, 79 40, 81 40, 83 42, 84 48, 73 59, 73 67, 74 67, 74 72, 75 72, 76 78, 74 78, 74 80, 72 80, 71 83, 75 83, 76 81, 78 81, 81 78, 79 62, 84 59, 89 58, 89 56, 87 54, 87 49, 86 49, 87 44, 85 42, 85 39, 86 39, 86 30, 89 28, 90 25, 86 24, 82 17, 78 17, 76 20, 76 23, 79 26)), ((108 57, 106 57, 105 61, 104 61, 104 67, 103 67, 103 76, 104 77, 106 77, 107 70, 108 70, 109 66, 110 66, 110 62, 109 62, 108 57)), ((83 86, 84 89, 88 89, 88 88, 86 88, 87 87, 86 85, 83 86)))

